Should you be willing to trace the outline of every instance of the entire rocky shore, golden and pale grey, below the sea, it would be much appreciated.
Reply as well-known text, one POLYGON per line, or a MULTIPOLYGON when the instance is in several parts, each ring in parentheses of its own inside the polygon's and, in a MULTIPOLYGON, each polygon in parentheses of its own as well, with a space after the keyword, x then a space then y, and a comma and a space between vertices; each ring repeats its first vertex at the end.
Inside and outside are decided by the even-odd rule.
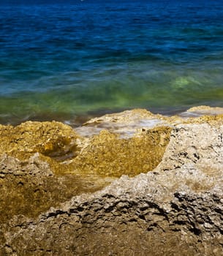
POLYGON ((0 255, 223 255, 222 108, 0 135, 0 255))

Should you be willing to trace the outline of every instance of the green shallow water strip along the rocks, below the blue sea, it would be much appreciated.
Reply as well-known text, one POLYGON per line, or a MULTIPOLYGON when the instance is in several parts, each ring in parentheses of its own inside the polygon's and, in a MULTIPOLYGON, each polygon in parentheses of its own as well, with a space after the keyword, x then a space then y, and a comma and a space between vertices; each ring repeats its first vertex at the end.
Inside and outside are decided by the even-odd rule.
MULTIPOLYGON (((139 68, 139 67, 138 67, 139 68)), ((130 66, 110 75, 95 72, 83 83, 69 83, 48 91, 21 91, 1 97, 1 124, 26 120, 72 121, 77 125, 91 113, 129 108, 186 109, 194 105, 222 105, 222 73, 218 69, 138 70, 130 66), (131 72, 132 68, 135 72, 131 72), (82 118, 80 118, 82 117, 82 118), (79 123, 78 123, 79 122, 79 123)))

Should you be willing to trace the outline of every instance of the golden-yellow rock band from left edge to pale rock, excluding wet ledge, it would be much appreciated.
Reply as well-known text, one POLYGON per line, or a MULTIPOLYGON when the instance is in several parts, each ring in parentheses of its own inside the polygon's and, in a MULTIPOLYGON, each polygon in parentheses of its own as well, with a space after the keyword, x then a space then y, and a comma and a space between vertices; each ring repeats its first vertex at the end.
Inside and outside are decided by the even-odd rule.
POLYGON ((102 130, 90 139, 80 138, 58 122, 31 122, 0 127, 1 154, 20 160, 39 153, 54 173, 84 173, 119 177, 154 169, 170 138, 170 127, 155 127, 132 138, 102 130))

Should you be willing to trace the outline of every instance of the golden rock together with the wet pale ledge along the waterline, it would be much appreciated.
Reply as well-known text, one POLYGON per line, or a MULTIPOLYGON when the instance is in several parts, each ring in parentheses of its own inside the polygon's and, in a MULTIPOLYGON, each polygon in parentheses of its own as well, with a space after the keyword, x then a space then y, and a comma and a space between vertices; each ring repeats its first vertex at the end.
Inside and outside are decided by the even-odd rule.
POLYGON ((20 160, 38 153, 57 174, 135 176, 161 162, 175 125, 222 125, 223 114, 214 115, 216 108, 201 106, 189 112, 195 110, 212 111, 213 115, 168 117, 136 109, 93 118, 78 129, 57 121, 0 125, 0 152, 20 160))

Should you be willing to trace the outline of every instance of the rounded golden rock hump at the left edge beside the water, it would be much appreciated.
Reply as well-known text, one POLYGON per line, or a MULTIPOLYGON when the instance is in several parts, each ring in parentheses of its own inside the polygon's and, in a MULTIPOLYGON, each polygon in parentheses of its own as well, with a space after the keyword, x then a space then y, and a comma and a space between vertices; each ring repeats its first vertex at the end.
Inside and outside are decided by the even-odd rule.
POLYGON ((0 151, 20 159, 39 152, 50 157, 75 152, 78 135, 59 122, 26 121, 16 127, 0 126, 0 151))

